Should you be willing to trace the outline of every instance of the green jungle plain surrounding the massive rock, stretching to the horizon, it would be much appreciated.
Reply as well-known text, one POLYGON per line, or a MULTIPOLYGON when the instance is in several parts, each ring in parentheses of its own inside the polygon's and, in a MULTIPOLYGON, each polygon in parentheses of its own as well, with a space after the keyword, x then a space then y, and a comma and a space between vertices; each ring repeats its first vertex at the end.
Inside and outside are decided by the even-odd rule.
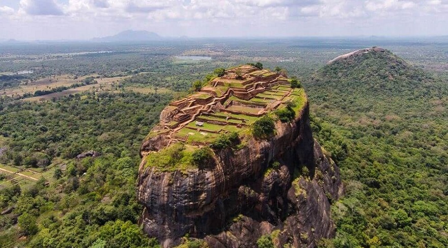
POLYGON ((448 246, 448 42, 354 38, 0 44, 0 246, 159 247, 138 223, 142 141, 194 81, 256 62, 299 79, 341 169, 336 235, 320 247, 448 246), (327 65, 370 46, 394 54, 327 65), (53 75, 123 79, 15 91, 53 75), (100 156, 76 158, 87 151, 100 156))

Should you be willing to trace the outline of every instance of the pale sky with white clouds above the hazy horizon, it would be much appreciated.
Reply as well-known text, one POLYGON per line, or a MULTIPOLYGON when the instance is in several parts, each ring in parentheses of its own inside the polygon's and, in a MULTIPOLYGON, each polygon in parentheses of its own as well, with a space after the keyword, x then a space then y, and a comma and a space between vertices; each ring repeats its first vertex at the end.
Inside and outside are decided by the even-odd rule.
POLYGON ((0 40, 448 35, 448 0, 0 0, 0 40))

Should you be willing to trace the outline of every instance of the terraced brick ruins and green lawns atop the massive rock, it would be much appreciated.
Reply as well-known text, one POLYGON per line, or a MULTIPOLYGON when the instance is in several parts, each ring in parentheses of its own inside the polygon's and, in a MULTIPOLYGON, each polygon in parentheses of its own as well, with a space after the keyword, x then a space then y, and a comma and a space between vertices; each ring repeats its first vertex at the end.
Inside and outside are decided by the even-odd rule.
POLYGON ((170 103, 148 138, 162 134, 166 146, 208 144, 219 134, 245 129, 297 97, 294 91, 286 77, 270 70, 249 65, 232 68, 200 92, 170 103))

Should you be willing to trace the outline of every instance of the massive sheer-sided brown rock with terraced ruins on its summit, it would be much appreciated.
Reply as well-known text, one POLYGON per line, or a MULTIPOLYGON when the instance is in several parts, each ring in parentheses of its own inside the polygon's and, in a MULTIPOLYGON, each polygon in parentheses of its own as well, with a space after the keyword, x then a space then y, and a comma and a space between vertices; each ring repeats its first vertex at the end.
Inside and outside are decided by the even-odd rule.
MULTIPOLYGON (((256 69, 246 73, 253 71, 256 69)), ((251 98, 261 96, 259 94, 269 98, 267 92, 278 92, 280 87, 286 87, 286 80, 279 80, 279 75, 274 74, 255 76, 253 86, 245 89, 246 93, 258 89, 251 96, 250 92, 243 94, 241 89, 235 93, 231 90, 233 85, 226 91, 227 96, 214 95, 215 107, 198 107, 192 116, 181 116, 180 119, 191 123, 203 115, 226 111, 229 98, 238 94, 238 99, 246 100, 239 102, 243 105, 249 104, 247 101, 251 98), (207 109, 213 112, 204 113, 207 109)), ((216 87, 220 80, 222 78, 215 79, 210 85, 216 87)), ((235 82, 233 78, 229 80, 235 82)), ((281 107, 285 99, 294 94, 294 89, 282 89, 285 92, 278 95, 283 97, 273 98, 256 115, 269 113, 275 109, 273 106, 281 107)), ((182 133, 181 129, 187 127, 184 122, 179 127, 172 118, 183 110, 179 110, 179 104, 168 106, 161 114, 164 124, 153 130, 141 150, 143 159, 137 180, 137 197, 144 205, 141 219, 144 231, 157 237, 163 247, 179 244, 186 234, 204 239, 210 247, 254 247, 260 236, 270 233, 276 247, 285 244, 315 247, 318 239, 332 237, 330 202, 342 194, 339 169, 313 139, 309 104, 304 94, 302 97, 302 105, 294 120, 288 123, 276 121, 275 135, 269 139, 259 140, 244 134, 244 125, 240 125, 243 146, 215 151, 208 166, 186 170, 160 168, 154 161, 148 164, 151 153, 173 142, 188 143, 188 135, 183 140, 173 139, 173 135, 182 133)), ((200 98, 203 106, 209 104, 205 97, 200 98)), ((189 109, 192 104, 182 107, 189 109)), ((220 122, 229 124, 226 121, 231 118, 220 122)), ((226 132, 225 129, 221 131, 226 132)), ((191 146, 206 146, 209 142, 193 140, 191 146)))

